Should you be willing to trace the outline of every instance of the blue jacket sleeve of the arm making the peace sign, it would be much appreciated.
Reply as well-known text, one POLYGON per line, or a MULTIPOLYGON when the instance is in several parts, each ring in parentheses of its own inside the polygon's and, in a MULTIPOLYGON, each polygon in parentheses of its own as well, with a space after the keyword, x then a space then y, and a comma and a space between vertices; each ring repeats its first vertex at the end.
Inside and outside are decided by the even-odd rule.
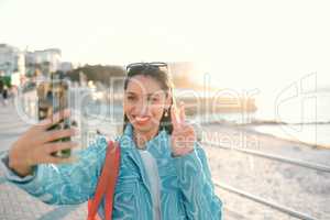
POLYGON ((222 201, 215 194, 207 157, 199 143, 195 142, 191 153, 174 157, 174 162, 188 219, 221 220, 222 201))

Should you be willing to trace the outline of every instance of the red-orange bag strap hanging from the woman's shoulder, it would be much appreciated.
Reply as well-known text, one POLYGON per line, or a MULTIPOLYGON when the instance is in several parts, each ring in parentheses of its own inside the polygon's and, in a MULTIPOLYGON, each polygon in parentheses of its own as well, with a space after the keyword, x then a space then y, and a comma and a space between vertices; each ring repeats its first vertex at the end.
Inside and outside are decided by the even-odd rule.
POLYGON ((87 220, 101 220, 98 216, 98 207, 102 197, 105 196, 105 217, 106 220, 112 220, 112 207, 114 187, 119 174, 120 166, 120 145, 118 142, 110 141, 108 143, 108 150, 106 161, 101 172, 101 176, 98 180, 95 197, 88 200, 88 217, 87 220))

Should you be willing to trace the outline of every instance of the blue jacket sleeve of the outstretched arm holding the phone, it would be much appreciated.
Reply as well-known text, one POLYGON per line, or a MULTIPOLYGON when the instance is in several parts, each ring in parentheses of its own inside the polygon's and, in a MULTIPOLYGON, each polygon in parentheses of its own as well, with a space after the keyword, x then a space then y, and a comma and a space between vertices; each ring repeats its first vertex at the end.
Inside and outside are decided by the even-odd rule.
POLYGON ((106 158, 107 140, 98 138, 77 153, 73 164, 40 164, 33 174, 21 178, 2 160, 8 182, 50 205, 77 205, 94 197, 106 158))

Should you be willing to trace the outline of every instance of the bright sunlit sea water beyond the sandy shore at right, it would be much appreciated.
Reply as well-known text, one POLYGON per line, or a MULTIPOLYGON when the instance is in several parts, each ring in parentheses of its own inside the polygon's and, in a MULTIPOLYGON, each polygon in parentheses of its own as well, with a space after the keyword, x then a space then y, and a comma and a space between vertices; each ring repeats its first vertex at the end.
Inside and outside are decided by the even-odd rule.
POLYGON ((330 147, 330 90, 298 97, 277 106, 261 105, 254 119, 275 122, 252 123, 257 132, 330 147))

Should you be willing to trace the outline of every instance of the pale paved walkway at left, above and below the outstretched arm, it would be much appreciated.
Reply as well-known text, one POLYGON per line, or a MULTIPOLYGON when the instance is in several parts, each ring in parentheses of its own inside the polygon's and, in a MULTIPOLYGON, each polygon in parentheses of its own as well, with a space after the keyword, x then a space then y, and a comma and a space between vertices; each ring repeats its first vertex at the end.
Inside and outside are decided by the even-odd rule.
MULTIPOLYGON (((0 106, 0 154, 29 128, 13 106, 0 106)), ((0 220, 85 220, 87 204, 79 206, 50 206, 6 182, 0 170, 0 220)))

